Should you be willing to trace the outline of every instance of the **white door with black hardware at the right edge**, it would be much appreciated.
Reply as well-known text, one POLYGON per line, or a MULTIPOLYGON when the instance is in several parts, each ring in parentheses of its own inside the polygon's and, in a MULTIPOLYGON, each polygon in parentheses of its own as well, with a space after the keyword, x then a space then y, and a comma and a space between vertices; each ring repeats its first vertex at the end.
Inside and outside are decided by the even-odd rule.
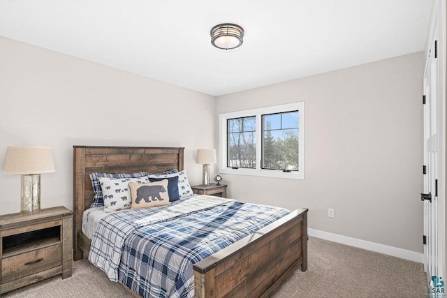
MULTIPOLYGON (((434 30, 430 38, 430 54, 425 62, 424 74, 424 190, 421 200, 424 204, 424 266, 429 281, 447 279, 443 274, 444 262, 444 228, 443 207, 444 198, 441 194, 440 178, 442 170, 441 142, 442 142, 442 77, 439 59, 437 20, 434 20, 434 30), (443 278, 444 277, 444 278, 443 278)), ((436 284, 433 286, 436 288, 436 284)))

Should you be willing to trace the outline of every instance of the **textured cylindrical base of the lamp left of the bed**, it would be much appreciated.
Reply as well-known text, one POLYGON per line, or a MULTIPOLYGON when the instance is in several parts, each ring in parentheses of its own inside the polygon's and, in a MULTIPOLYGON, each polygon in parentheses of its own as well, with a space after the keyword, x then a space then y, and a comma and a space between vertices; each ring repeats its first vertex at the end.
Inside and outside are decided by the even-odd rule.
POLYGON ((34 214, 41 210, 41 174, 22 175, 20 212, 34 214))

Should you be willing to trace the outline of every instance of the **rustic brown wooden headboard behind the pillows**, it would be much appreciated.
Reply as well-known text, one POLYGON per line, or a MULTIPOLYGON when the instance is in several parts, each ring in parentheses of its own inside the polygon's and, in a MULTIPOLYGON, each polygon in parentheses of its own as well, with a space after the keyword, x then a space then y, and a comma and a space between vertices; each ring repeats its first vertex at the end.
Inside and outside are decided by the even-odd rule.
POLYGON ((75 260, 78 253, 78 231, 82 230, 82 212, 93 202, 89 174, 162 172, 183 168, 184 148, 175 147, 96 147, 73 146, 73 212, 75 260))

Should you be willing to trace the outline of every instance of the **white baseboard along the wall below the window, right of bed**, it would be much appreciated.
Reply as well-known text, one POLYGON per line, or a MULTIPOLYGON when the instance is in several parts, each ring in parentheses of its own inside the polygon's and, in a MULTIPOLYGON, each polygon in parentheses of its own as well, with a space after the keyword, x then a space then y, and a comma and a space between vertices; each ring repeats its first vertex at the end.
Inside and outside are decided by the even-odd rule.
POLYGON ((397 248, 393 246, 378 244, 370 241, 360 240, 356 238, 346 237, 339 234, 332 234, 320 230, 307 229, 307 234, 312 237, 321 238, 329 241, 334 241, 349 246, 367 249, 368 251, 375 251, 376 253, 383 253, 385 255, 392 255, 393 257, 411 260, 413 262, 423 263, 423 253, 416 253, 415 251, 407 251, 406 249, 397 248))

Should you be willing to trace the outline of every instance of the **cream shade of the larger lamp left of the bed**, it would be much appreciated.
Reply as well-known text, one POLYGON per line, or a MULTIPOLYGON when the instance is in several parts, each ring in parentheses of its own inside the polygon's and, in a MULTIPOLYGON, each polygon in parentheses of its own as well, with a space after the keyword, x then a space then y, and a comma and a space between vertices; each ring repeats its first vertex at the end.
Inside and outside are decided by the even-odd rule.
POLYGON ((42 174, 55 172, 51 147, 8 147, 5 174, 42 174))

